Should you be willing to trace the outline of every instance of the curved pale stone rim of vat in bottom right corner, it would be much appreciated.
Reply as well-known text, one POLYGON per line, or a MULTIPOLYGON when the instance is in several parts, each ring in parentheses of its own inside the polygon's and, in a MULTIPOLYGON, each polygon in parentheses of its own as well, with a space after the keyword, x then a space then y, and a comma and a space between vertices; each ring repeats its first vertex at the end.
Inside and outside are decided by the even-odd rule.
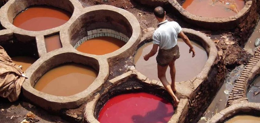
POLYGON ((239 103, 229 106, 214 115, 207 123, 223 123, 238 114, 258 115, 260 113, 260 103, 239 103))

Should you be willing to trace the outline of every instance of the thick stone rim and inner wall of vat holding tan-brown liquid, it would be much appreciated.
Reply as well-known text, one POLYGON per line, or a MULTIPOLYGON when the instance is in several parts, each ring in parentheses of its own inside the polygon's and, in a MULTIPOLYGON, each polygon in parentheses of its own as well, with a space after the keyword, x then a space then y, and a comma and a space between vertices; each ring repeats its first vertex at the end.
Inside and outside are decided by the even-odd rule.
POLYGON ((23 83, 22 92, 29 101, 46 110, 58 111, 60 109, 77 108, 101 89, 108 73, 109 65, 106 60, 77 54, 72 50, 59 49, 39 58, 27 69, 26 74, 29 78, 23 83), (72 96, 61 97, 46 94, 33 88, 37 80, 48 70, 70 62, 89 65, 99 71, 97 78, 87 89, 72 96))

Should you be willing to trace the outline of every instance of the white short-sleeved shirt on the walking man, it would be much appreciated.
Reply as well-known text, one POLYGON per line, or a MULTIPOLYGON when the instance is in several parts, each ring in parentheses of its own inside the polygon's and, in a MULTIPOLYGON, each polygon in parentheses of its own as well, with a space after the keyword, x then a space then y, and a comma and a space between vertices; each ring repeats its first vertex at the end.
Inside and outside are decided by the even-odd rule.
POLYGON ((182 27, 177 22, 168 20, 159 23, 159 28, 153 34, 153 44, 158 44, 160 49, 168 50, 177 45, 178 34, 182 27))

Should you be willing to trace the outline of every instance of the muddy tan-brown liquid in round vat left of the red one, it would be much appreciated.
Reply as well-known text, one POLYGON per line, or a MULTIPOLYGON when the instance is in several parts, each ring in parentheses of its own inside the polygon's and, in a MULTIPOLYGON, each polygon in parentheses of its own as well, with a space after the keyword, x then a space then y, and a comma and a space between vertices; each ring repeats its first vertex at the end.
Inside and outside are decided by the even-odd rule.
POLYGON ((91 85, 97 74, 94 69, 85 65, 65 64, 45 73, 34 88, 55 96, 71 96, 91 85))

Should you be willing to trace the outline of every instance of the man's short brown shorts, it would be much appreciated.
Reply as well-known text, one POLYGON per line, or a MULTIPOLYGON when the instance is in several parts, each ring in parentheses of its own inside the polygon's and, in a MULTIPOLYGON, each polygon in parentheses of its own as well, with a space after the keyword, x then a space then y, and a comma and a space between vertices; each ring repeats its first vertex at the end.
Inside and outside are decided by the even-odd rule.
POLYGON ((179 46, 176 45, 173 48, 168 50, 159 49, 158 55, 156 57, 156 61, 158 65, 167 66, 172 60, 178 58, 180 58, 180 52, 179 52, 179 46))

